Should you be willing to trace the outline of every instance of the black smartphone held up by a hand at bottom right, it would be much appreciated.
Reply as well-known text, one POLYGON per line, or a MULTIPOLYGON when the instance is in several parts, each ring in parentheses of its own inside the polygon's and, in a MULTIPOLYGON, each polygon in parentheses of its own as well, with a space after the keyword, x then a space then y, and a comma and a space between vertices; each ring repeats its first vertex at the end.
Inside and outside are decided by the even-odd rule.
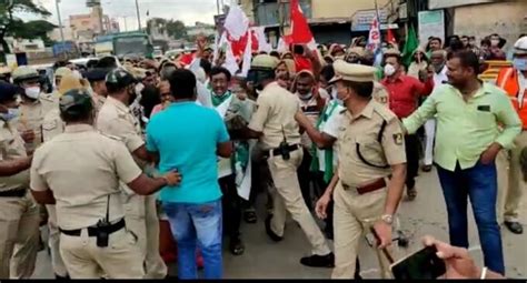
POLYGON ((436 246, 427 246, 391 264, 396 280, 435 280, 446 272, 445 262, 437 257, 436 246))

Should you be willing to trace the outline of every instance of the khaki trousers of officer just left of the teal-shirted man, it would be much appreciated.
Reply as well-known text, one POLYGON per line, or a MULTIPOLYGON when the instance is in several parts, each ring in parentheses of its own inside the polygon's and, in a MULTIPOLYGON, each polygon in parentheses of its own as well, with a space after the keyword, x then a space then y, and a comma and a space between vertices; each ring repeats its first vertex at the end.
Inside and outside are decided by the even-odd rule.
POLYGON ((138 236, 145 262, 145 279, 165 279, 167 265, 159 253, 159 218, 155 195, 128 195, 125 203, 127 229, 138 236))

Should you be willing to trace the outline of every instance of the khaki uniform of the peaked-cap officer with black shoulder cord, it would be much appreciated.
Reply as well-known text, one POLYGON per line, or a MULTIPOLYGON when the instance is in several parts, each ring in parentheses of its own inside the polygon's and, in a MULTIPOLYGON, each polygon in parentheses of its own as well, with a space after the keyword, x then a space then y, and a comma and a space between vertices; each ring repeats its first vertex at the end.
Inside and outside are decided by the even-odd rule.
MULTIPOLYGON (((359 117, 352 118, 349 111, 341 115, 344 121, 337 139, 340 181, 334 192, 335 270, 331 277, 352 279, 359 240, 380 220, 387 199, 386 188, 361 195, 355 188, 390 174, 389 166, 381 169, 366 164, 359 158, 356 144, 360 144, 364 159, 379 166, 406 163, 406 154, 399 120, 386 107, 372 100, 359 117), (378 134, 384 121, 387 124, 379 143, 378 134)), ((382 277, 388 277, 387 260, 379 250, 376 252, 382 277)))

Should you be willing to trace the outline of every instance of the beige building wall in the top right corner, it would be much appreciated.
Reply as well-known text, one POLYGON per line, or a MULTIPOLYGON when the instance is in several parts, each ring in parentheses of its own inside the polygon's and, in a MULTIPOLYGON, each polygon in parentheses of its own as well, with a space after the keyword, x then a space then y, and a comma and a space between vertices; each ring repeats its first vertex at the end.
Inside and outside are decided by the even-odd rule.
POLYGON ((498 33, 511 47, 518 36, 527 32, 525 0, 429 0, 430 10, 445 10, 451 18, 448 34, 475 36, 478 40, 498 33))

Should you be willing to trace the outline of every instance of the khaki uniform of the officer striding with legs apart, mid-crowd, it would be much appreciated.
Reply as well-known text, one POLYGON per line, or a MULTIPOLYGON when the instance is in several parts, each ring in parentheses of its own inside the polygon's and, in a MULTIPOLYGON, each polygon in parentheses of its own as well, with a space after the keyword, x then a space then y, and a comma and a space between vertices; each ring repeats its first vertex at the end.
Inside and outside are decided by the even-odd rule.
POLYGON ((297 179, 297 169, 302 161, 301 148, 291 151, 290 159, 287 161, 281 155, 272 154, 272 150, 279 148, 284 141, 284 133, 289 145, 300 144, 299 127, 294 118, 299 110, 298 98, 274 82, 267 85, 258 97, 257 110, 249 128, 264 133, 260 145, 264 152, 270 155, 267 163, 278 194, 274 198, 275 213, 271 230, 279 236, 284 235, 285 212, 288 211, 307 235, 312 253, 326 255, 330 253, 329 246, 302 200, 297 179))

